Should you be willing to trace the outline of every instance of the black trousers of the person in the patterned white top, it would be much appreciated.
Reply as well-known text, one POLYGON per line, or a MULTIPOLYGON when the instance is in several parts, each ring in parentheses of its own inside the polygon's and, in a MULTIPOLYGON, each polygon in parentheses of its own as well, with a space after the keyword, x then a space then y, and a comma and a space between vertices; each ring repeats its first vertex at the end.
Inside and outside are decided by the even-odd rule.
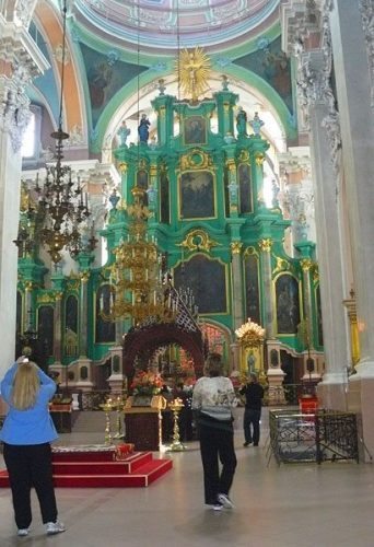
POLYGON ((236 467, 234 432, 206 426, 199 428, 206 503, 217 503, 219 493, 229 494, 236 467), (220 464, 222 470, 220 473, 220 464))

